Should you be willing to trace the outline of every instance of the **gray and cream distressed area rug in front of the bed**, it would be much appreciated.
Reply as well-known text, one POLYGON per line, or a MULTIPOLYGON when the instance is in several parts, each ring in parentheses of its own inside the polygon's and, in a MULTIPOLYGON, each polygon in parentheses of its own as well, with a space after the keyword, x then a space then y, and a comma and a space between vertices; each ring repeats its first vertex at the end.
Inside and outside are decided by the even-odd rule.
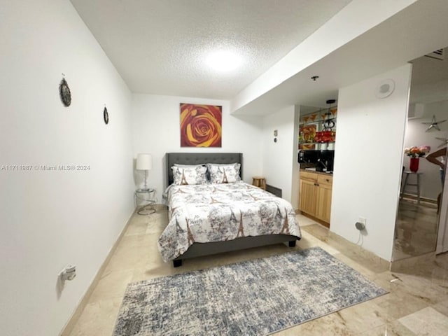
POLYGON ((385 293, 315 247, 130 283, 113 335, 268 335, 385 293))

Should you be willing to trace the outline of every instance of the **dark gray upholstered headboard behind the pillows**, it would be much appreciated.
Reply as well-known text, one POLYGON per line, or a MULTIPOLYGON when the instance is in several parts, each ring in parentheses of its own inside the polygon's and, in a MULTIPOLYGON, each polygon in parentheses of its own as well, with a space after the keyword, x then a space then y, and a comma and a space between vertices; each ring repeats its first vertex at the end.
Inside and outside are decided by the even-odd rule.
POLYGON ((203 165, 206 163, 235 163, 241 164, 239 174, 243 179, 243 153, 166 153, 167 186, 173 183, 171 167, 179 165, 203 165))

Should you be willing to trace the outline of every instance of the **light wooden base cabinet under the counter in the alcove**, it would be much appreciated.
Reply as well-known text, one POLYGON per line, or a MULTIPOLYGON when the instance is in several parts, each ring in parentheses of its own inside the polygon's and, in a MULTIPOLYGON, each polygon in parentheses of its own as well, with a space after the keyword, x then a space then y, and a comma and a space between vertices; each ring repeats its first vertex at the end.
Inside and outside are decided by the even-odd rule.
POLYGON ((300 172, 300 204, 302 213, 330 224, 332 176, 300 172))

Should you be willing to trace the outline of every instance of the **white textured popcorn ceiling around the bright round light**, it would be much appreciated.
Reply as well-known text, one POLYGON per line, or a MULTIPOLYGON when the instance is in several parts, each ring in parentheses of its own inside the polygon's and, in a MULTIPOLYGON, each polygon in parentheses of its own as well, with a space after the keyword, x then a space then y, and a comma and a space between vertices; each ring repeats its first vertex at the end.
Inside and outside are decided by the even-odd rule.
POLYGON ((71 0, 132 92, 232 99, 351 0, 71 0), (216 49, 241 66, 216 73, 216 49))

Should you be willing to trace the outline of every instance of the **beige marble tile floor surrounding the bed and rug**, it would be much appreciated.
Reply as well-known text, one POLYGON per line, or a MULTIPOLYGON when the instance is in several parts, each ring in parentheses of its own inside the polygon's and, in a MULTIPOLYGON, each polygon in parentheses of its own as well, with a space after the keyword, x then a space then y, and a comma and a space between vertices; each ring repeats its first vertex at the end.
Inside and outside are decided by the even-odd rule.
MULTIPOLYGON (((302 240, 295 248, 321 246, 390 293, 275 335, 448 335, 447 253, 437 256, 433 263, 414 265, 409 272, 389 272, 384 263, 329 237, 323 226, 300 215, 297 218, 302 240)), ((182 267, 174 269, 172 263, 162 262, 156 246, 166 223, 167 211, 161 206, 151 216, 133 216, 85 309, 67 335, 112 335, 127 283, 290 251, 283 244, 252 248, 184 260, 182 267)))

